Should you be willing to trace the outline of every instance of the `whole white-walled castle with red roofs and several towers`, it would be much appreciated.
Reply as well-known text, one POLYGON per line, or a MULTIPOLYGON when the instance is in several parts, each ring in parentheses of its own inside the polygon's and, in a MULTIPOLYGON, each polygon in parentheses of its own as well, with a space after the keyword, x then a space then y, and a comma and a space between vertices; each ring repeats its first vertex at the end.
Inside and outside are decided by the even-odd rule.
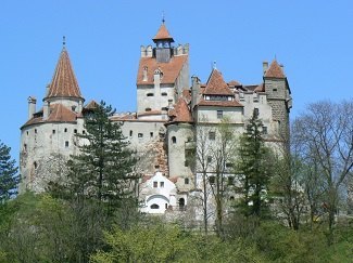
MULTIPOLYGON (((212 177, 214 156, 209 150, 201 160, 194 152, 204 142, 218 144, 223 120, 239 135, 256 111, 266 142, 286 144, 292 101, 283 68, 276 60, 263 63, 262 83, 225 81, 214 67, 205 82, 192 76, 190 86, 189 45, 173 47, 164 21, 152 40, 153 47, 140 49, 137 110, 116 114, 112 120, 122 123, 130 147, 139 155, 142 210, 164 213, 188 205, 202 172, 212 177), (202 161, 207 163, 206 171, 202 161)), ((62 161, 78 153, 75 134, 86 132, 84 115, 94 107, 94 102, 84 105, 65 47, 42 102, 37 110, 36 98, 28 98, 28 120, 21 128, 20 192, 45 190, 64 169, 62 161)), ((223 166, 228 167, 227 160, 223 166)))

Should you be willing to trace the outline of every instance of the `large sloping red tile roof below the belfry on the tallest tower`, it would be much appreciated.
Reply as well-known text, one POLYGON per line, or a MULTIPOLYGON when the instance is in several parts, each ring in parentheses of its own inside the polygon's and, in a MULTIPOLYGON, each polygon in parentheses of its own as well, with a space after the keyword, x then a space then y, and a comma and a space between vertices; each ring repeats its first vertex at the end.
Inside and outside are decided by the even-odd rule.
POLYGON ((155 57, 141 57, 137 73, 137 84, 153 84, 154 70, 163 73, 161 83, 175 83, 182 66, 188 62, 188 55, 173 56, 168 63, 157 63, 155 57), (143 68, 147 67, 147 81, 143 81, 143 68))

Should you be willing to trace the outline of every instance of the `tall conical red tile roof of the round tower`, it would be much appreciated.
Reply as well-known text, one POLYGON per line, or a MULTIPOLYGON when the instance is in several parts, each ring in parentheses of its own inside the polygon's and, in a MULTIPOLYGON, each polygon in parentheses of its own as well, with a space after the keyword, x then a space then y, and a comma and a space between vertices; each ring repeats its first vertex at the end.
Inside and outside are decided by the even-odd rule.
POLYGON ((49 86, 47 97, 78 97, 83 98, 71 65, 68 53, 64 48, 60 54, 55 73, 49 86))

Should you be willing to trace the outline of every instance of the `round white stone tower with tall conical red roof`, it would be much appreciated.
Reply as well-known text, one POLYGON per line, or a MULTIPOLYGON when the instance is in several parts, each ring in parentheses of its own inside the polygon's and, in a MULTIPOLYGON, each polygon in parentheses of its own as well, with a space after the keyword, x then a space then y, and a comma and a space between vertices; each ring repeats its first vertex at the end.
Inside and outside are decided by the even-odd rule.
POLYGON ((68 53, 63 47, 43 106, 28 98, 28 120, 21 127, 20 193, 45 190, 58 179, 70 155, 76 154, 76 133, 84 131, 83 104, 68 53))

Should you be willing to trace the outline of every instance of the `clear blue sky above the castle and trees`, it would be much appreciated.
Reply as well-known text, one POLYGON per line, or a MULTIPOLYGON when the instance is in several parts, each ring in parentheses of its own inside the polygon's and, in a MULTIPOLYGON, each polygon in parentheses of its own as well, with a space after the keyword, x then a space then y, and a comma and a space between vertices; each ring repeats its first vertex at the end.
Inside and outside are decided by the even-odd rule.
POLYGON ((190 44, 190 75, 205 81, 211 64, 225 80, 262 81, 262 62, 285 65, 293 119, 319 100, 352 98, 352 1, 2 0, 0 140, 17 159, 27 97, 41 100, 62 36, 86 102, 136 108, 141 44, 151 44, 162 13, 175 44, 190 44))

